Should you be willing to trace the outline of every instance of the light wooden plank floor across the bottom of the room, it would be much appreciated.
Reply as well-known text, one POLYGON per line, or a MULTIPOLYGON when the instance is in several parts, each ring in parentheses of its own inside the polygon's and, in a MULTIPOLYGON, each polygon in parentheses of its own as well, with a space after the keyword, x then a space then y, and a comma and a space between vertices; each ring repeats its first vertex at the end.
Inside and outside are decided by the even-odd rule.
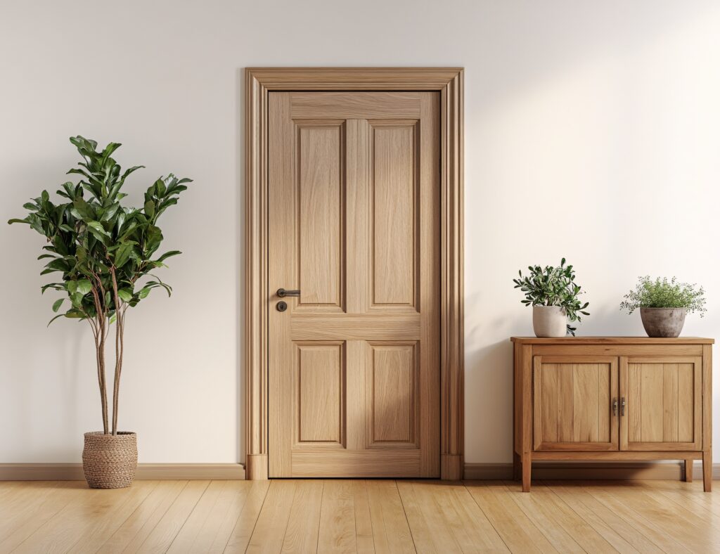
POLYGON ((0 553, 720 552, 679 481, 0 483, 0 553))

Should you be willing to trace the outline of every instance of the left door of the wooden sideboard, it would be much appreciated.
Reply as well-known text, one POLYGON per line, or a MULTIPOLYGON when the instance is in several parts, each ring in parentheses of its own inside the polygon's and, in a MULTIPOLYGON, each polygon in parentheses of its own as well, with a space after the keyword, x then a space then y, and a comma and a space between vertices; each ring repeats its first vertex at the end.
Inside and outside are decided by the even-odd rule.
POLYGON ((535 356, 535 450, 618 450, 618 359, 535 356))

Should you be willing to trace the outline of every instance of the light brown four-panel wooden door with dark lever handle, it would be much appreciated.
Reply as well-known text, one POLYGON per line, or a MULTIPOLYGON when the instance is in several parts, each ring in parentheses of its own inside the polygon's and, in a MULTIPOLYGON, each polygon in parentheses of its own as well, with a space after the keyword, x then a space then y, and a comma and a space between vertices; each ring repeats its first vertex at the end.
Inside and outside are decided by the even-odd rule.
POLYGON ((269 93, 270 477, 440 475, 439 100, 269 93))

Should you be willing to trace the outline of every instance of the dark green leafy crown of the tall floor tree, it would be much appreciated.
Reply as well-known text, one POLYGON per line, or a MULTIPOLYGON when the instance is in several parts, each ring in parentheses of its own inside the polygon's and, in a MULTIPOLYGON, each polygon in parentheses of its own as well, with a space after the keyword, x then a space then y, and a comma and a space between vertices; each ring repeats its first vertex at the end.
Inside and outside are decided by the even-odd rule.
MULTIPOLYGON (((174 250, 155 257, 163 240, 158 218, 177 203, 179 194, 187 189, 184 183, 191 180, 173 174, 159 178, 145 192, 143 208, 122 206, 125 179, 143 166, 123 172, 112 158, 120 147, 117 142, 103 150, 96 150, 94 140, 80 136, 71 137, 70 142, 83 160, 68 174, 80 176, 80 181, 63 183, 58 195, 64 201, 58 204, 50 200, 48 191, 42 191, 24 204, 30 212, 24 219, 9 221, 27 223, 48 241, 38 258, 47 260, 42 274, 60 273, 61 278, 43 286, 42 292, 66 293, 70 302, 60 316, 73 319, 102 314, 112 318, 116 309, 125 304, 136 306, 158 287, 169 295, 171 287, 157 277, 138 283, 150 271, 164 267, 168 257, 179 254, 174 250)), ((56 301, 53 311, 57 312, 60 304, 61 300, 56 301)))

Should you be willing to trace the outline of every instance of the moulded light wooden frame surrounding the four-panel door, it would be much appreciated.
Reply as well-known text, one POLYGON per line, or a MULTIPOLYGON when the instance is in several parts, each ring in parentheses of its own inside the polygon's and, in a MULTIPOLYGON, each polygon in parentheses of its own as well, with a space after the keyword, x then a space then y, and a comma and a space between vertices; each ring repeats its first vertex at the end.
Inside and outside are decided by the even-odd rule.
POLYGON ((463 477, 463 68, 246 68, 246 478, 268 478, 268 94, 438 91, 441 96, 441 478, 463 477))

